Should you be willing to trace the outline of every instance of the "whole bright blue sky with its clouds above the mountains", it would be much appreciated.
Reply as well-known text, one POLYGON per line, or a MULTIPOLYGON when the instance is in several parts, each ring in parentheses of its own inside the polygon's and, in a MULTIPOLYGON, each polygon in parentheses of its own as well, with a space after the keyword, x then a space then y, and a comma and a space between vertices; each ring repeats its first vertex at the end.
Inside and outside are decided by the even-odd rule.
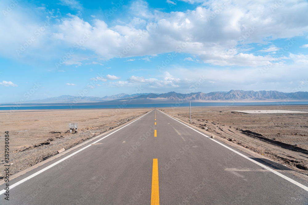
POLYGON ((308 3, 0 2, 0 102, 308 91, 308 3))

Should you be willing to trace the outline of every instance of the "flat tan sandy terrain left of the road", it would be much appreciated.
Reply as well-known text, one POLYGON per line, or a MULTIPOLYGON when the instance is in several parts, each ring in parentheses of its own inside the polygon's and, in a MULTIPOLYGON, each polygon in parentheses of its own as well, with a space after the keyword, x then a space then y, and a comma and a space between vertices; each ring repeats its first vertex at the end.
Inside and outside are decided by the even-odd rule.
MULTIPOLYGON (((0 111, 0 170, 4 170, 4 132, 10 135, 10 174, 71 148, 100 133, 151 111, 142 109, 20 110, 0 111), (68 123, 78 123, 70 134, 68 123)), ((0 179, 4 171, 0 172, 0 179)))

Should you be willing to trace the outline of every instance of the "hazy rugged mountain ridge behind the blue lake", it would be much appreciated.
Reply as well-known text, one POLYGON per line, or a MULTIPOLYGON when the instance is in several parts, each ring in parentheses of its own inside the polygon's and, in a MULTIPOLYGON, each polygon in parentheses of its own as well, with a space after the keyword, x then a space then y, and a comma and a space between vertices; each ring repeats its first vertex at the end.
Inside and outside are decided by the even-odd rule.
POLYGON ((308 92, 295 92, 295 93, 283 93, 277 91, 244 91, 244 90, 230 90, 229 92, 210 92, 210 93, 136 93, 128 95, 126 93, 120 93, 117 95, 105 96, 105 97, 75 97, 71 95, 62 95, 59 97, 51 97, 43 100, 35 100, 28 102, 94 102, 94 101, 112 101, 119 99, 152 99, 152 100, 183 100, 183 101, 240 101, 240 100, 304 100, 308 99, 308 92))

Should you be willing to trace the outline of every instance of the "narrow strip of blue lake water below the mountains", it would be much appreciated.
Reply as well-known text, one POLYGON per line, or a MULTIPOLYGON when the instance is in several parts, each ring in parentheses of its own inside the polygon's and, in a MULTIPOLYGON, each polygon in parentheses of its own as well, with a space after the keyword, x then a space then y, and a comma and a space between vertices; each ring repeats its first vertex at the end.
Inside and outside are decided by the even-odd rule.
MULTIPOLYGON (((308 104, 308 101, 286 101, 278 102, 278 106, 308 104)), ((276 102, 192 102, 191 106, 239 106, 239 105, 276 105, 276 102)), ((188 107, 189 103, 162 103, 162 104, 1 104, 0 110, 41 110, 41 109, 103 109, 103 108, 161 108, 161 107, 188 107)))

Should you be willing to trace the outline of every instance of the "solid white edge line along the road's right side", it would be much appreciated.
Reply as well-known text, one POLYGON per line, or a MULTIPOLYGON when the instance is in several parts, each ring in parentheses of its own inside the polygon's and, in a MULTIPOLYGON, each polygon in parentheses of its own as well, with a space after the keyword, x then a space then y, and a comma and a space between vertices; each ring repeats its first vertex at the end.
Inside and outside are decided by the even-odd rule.
MULTIPOLYGON (((159 111, 160 111, 160 110, 159 110, 159 111)), ((162 112, 162 111, 160 111, 160 112, 162 112)), ((162 113, 165 114, 165 115, 167 115, 167 114, 164 113, 164 112, 162 112, 162 113)), ((167 115, 167 116, 168 116, 168 117, 171 117, 171 116, 169 116, 169 115, 167 115)), ((173 120, 176 120, 176 119, 174 119, 173 117, 171 117, 171 118, 172 118, 173 120)), ((176 120, 176 121, 178 121, 178 122, 181 123, 181 124, 184 124, 184 123, 180 122, 179 120, 176 120)), ((195 130, 194 128, 189 127, 187 124, 184 124, 184 125, 187 126, 188 128, 191 128, 192 130, 194 130, 194 131, 200 133, 201 135, 206 136, 206 135, 203 134, 202 132, 199 132, 199 131, 195 130)), ((212 139, 212 138, 209 137, 209 136, 206 136, 206 137, 209 138, 210 140, 213 140, 214 142, 216 142, 216 143, 218 143, 218 144, 224 146, 225 148, 231 150, 232 152, 235 152, 235 153, 237 153, 238 155, 240 155, 240 156, 246 158, 247 160, 249 160, 249 161, 251 161, 251 162, 253 162, 253 163, 259 165, 260 167, 263 167, 263 168, 267 169, 268 171, 271 171, 271 172, 273 172, 274 174, 276 174, 276 175, 282 177, 283 179, 286 179, 286 180, 288 180, 289 182, 291 182, 291 183, 297 185, 298 187, 301 187, 302 189, 308 191, 308 187, 306 187, 305 185, 303 185, 303 184, 301 184, 301 183, 299 183, 299 182, 297 182, 297 181, 295 181, 295 180, 293 180, 293 179, 291 179, 291 178, 289 178, 289 177, 287 177, 287 176, 285 176, 285 175, 279 173, 278 171, 275 171, 274 169, 271 169, 271 168, 265 166, 264 164, 261 164, 261 163, 255 161, 255 160, 251 159, 250 157, 247 157, 247 156, 243 155, 243 154, 240 153, 240 152, 235 151, 235 150, 232 149, 232 148, 229 148, 228 146, 226 146, 226 145, 224 145, 224 144, 222 144, 222 143, 220 143, 220 142, 218 142, 218 141, 212 139)))

